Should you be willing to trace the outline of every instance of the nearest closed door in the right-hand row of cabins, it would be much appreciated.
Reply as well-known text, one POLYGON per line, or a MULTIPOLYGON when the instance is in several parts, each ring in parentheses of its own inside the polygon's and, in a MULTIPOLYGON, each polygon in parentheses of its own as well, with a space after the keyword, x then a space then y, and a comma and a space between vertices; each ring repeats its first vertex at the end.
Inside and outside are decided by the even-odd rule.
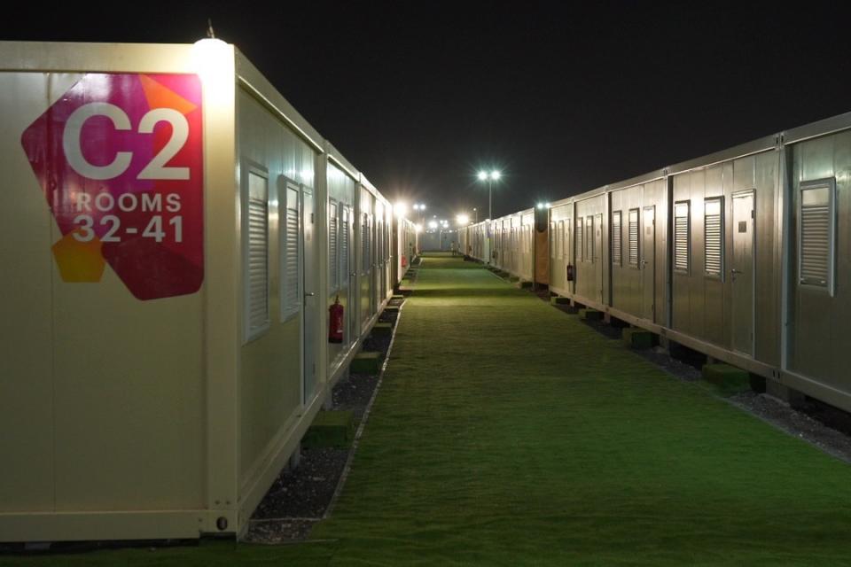
POLYGON ((733 197, 733 348, 753 354, 753 193, 733 197))

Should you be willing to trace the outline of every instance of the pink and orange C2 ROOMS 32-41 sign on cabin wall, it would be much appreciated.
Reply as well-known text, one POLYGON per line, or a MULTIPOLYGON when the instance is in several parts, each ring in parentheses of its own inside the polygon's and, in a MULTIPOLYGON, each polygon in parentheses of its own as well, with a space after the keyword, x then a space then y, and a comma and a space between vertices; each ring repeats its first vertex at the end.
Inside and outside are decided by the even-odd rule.
POLYGON ((105 264, 137 299, 204 281, 201 83, 193 74, 87 74, 21 136, 62 238, 66 282, 105 264))

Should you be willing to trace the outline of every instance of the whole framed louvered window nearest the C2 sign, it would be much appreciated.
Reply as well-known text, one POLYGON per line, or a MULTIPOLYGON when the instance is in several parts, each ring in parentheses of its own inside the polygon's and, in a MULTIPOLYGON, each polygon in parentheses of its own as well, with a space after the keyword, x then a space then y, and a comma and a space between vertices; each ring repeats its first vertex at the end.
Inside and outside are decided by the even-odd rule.
POLYGON ((269 329, 269 189, 266 178, 248 173, 246 203, 246 339, 269 329))

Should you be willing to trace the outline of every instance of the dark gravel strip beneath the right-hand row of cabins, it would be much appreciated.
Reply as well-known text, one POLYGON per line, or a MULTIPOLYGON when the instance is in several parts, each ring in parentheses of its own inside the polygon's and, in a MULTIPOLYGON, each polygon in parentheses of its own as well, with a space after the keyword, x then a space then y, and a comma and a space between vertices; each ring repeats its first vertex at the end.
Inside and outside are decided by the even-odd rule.
MULTIPOLYGON (((535 294, 544 301, 550 301, 549 291, 539 290, 535 294)), ((578 311, 574 307, 554 307, 569 314, 578 311)), ((621 338, 621 326, 602 321, 584 323, 606 338, 621 338)), ((691 349, 679 348, 669 353, 660 346, 654 346, 635 352, 681 380, 696 382, 703 377, 700 369, 707 360, 706 356, 691 349)), ((783 400, 760 392, 741 392, 724 400, 825 453, 851 462, 851 414, 839 408, 811 398, 793 408, 783 400)))

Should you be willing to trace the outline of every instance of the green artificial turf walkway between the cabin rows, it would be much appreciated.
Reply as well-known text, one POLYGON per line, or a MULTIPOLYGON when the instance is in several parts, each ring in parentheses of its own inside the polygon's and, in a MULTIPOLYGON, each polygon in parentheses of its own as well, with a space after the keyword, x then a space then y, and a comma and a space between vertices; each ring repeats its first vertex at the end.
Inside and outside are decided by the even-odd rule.
POLYGON ((0 565, 841 565, 849 481, 480 265, 426 256, 312 542, 0 565))

